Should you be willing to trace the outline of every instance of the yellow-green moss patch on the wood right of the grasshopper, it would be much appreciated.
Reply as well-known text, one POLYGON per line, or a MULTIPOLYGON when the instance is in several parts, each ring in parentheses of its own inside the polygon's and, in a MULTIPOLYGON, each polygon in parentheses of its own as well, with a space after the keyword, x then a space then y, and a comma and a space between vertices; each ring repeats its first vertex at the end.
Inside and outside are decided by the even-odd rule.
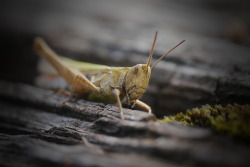
POLYGON ((250 105, 205 105, 175 116, 165 117, 160 123, 177 121, 184 125, 209 127, 232 137, 250 139, 250 105))

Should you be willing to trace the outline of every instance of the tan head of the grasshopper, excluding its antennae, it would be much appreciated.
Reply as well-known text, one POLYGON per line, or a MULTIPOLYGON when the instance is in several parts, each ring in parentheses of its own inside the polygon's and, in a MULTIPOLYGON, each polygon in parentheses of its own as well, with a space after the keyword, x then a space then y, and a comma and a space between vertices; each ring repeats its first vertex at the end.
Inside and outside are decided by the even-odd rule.
POLYGON ((129 102, 139 99, 145 92, 151 75, 151 68, 147 64, 137 64, 126 73, 124 89, 129 102))

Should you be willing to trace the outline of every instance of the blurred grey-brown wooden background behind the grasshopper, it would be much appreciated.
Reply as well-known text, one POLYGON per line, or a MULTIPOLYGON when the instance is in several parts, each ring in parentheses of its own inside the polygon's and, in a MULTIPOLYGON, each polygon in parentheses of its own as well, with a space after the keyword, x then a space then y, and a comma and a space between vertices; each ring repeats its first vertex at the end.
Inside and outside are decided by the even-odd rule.
MULTIPOLYGON (((250 5, 236 0, 5 0, 0 6, 0 79, 33 84, 42 36, 77 60, 132 66, 185 39, 152 73, 143 101, 159 117, 222 103, 218 80, 250 72, 250 5)), ((228 101, 227 101, 228 102, 228 101)))

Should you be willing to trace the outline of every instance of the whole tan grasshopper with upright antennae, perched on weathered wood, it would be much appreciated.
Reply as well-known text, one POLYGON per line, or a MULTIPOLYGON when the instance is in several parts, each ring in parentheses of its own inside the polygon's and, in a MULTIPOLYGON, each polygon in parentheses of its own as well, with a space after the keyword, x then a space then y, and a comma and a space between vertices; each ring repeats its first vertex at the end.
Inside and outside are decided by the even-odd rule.
POLYGON ((163 57, 185 41, 181 41, 164 53, 150 66, 157 34, 156 31, 147 63, 133 67, 109 67, 62 57, 57 55, 40 37, 35 38, 34 48, 56 69, 75 94, 92 101, 118 104, 120 117, 124 119, 122 103, 132 107, 137 105, 151 113, 151 107, 139 100, 148 86, 151 70, 163 57))

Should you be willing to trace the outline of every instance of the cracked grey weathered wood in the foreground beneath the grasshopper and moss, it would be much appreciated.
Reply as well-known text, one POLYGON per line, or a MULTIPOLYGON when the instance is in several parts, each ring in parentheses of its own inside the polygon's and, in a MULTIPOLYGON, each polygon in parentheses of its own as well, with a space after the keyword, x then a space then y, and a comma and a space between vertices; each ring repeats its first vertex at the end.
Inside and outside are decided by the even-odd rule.
POLYGON ((249 165, 248 146, 207 129, 159 124, 129 109, 123 121, 117 107, 67 98, 1 81, 0 165, 249 165))

